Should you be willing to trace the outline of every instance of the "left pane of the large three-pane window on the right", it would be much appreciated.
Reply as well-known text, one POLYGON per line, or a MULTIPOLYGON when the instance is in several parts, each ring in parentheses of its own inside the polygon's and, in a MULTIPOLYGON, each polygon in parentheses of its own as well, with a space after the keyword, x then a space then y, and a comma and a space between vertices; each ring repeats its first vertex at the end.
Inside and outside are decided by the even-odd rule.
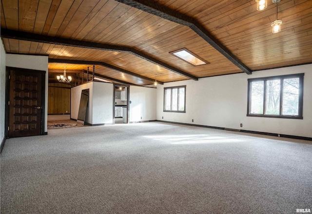
POLYGON ((250 114, 263 114, 263 81, 252 82, 250 114))

